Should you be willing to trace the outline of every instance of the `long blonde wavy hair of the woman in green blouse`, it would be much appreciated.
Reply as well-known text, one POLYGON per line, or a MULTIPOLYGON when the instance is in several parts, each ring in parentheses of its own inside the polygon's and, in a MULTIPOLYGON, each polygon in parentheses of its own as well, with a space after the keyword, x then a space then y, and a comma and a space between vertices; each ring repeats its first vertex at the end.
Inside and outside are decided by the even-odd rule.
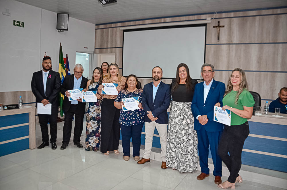
MULTIPOLYGON (((235 69, 233 69, 232 73, 234 71, 239 71, 239 73, 241 75, 241 81, 240 81, 240 84, 239 84, 239 90, 237 91, 237 94, 236 94, 236 97, 235 97, 235 104, 237 104, 238 103, 237 101, 238 101, 238 98, 239 98, 239 95, 241 94, 241 92, 243 92, 243 90, 248 90, 248 84, 247 84, 245 72, 242 69, 235 68, 235 69)), ((226 96, 229 92, 231 92, 233 90, 233 86, 231 84, 232 73, 231 73, 231 75, 229 77, 229 80, 228 80, 228 83, 227 83, 227 90, 225 91, 223 97, 226 96)))

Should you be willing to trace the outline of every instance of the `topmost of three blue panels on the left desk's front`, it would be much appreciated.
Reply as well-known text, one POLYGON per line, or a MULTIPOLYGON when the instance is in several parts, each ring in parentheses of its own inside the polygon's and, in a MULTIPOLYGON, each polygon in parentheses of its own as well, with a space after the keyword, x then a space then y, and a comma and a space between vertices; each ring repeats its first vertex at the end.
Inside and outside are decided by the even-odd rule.
POLYGON ((29 113, 6 115, 0 117, 0 127, 29 123, 29 113))

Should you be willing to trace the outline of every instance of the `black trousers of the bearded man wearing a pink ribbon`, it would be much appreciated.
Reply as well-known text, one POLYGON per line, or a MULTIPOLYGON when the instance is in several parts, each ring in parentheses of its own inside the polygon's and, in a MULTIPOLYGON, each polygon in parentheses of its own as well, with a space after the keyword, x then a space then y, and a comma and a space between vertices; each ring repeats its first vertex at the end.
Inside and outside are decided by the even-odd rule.
POLYGON ((38 114, 39 123, 42 132, 42 141, 44 143, 49 143, 49 134, 48 134, 48 121, 50 123, 50 142, 56 142, 57 140, 57 118, 58 118, 58 106, 52 107, 52 114, 38 114))

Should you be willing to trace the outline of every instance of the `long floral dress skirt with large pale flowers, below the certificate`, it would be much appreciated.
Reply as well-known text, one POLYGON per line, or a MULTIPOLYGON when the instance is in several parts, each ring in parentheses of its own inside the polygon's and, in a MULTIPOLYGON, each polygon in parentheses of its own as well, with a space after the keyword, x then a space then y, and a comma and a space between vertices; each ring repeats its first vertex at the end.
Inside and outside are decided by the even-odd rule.
POLYGON ((101 140, 101 106, 100 101, 90 102, 86 110, 85 150, 99 151, 101 140))

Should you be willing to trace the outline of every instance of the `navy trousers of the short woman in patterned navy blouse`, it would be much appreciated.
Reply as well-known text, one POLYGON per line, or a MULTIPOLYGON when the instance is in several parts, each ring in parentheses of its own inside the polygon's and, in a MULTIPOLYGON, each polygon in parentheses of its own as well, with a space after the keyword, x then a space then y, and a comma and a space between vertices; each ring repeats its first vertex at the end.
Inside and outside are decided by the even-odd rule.
POLYGON ((122 146, 124 156, 130 156, 129 148, 130 141, 133 142, 133 157, 139 156, 139 149, 141 148, 141 130, 144 123, 139 125, 121 125, 122 131, 122 146))

